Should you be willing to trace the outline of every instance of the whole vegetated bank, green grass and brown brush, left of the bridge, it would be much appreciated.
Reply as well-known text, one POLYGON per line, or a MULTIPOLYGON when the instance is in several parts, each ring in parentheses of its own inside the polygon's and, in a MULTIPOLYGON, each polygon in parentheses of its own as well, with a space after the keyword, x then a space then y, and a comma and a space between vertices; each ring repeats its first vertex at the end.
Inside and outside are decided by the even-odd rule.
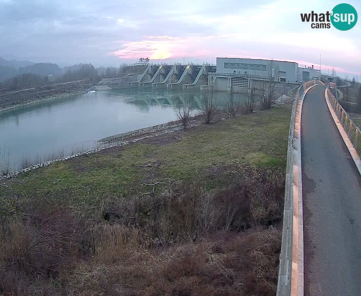
POLYGON ((290 109, 0 182, 0 292, 275 294, 290 109))

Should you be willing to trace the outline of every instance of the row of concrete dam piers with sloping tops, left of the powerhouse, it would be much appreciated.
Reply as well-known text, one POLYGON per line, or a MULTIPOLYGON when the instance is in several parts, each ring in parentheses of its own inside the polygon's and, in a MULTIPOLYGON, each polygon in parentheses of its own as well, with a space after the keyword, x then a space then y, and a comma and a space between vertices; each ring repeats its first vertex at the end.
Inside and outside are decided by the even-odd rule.
POLYGON ((129 83, 129 88, 195 88, 207 85, 209 73, 215 71, 216 66, 208 64, 148 65, 138 81, 129 83))

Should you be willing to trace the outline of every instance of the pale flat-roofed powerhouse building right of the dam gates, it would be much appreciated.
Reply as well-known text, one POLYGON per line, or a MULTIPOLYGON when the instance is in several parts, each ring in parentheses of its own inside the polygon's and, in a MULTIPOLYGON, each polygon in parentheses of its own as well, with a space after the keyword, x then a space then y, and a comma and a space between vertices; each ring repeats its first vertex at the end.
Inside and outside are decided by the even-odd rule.
POLYGON ((270 77, 278 82, 300 83, 319 79, 319 70, 287 61, 217 58, 213 83, 216 89, 226 90, 229 86, 248 87, 252 80, 268 80, 270 77))

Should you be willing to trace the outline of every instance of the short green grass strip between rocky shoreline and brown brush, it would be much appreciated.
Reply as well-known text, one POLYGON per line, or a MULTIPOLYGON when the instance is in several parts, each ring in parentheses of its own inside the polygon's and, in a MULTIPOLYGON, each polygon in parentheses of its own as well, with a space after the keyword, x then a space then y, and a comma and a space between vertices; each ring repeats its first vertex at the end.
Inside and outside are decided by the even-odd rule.
POLYGON ((166 144, 140 142, 116 152, 56 162, 7 181, 11 189, 0 187, 0 207, 8 211, 17 201, 34 196, 96 206, 108 197, 146 192, 144 182, 167 183, 198 176, 209 185, 206 172, 213 167, 247 163, 284 168, 290 114, 290 109, 274 107, 179 132, 180 141, 174 141, 172 134, 173 140, 166 144), (153 167, 134 166, 147 163, 153 167))

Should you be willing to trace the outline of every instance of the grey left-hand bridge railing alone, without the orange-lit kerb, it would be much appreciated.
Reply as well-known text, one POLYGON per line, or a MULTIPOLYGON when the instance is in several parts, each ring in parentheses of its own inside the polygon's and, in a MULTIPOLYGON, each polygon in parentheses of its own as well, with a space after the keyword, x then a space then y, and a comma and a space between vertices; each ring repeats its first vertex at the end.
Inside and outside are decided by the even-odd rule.
MULTIPOLYGON (((303 85, 299 86, 296 94, 295 100, 292 106, 292 114, 290 121, 290 130, 288 134, 288 147, 287 147, 287 166, 286 166, 286 183, 285 183, 285 206, 283 214, 283 229, 282 229, 282 246, 281 252, 279 254, 279 269, 278 269, 278 283, 277 283, 277 296, 291 296, 291 278, 292 278, 292 254, 293 254, 293 218, 294 218, 294 204, 293 204, 293 190, 294 190, 294 180, 293 176, 293 165, 298 163, 297 154, 300 153, 299 144, 297 144, 298 137, 295 135, 296 127, 296 113, 297 106, 299 101, 303 99, 305 91, 315 84, 320 84, 322 82, 310 80, 303 85)), ((298 110, 300 113, 301 110, 298 110)), ((360 141, 361 142, 361 141, 360 141)), ((298 198, 302 198, 299 196, 298 198)), ((298 211, 297 211, 298 212, 298 211)), ((298 220, 298 217, 297 217, 298 220)), ((296 269, 298 272, 298 270, 296 269)), ((297 274, 295 274, 297 276, 297 274)), ((302 283, 303 285, 303 283, 302 283)), ((298 290, 298 287, 296 287, 298 290)))

